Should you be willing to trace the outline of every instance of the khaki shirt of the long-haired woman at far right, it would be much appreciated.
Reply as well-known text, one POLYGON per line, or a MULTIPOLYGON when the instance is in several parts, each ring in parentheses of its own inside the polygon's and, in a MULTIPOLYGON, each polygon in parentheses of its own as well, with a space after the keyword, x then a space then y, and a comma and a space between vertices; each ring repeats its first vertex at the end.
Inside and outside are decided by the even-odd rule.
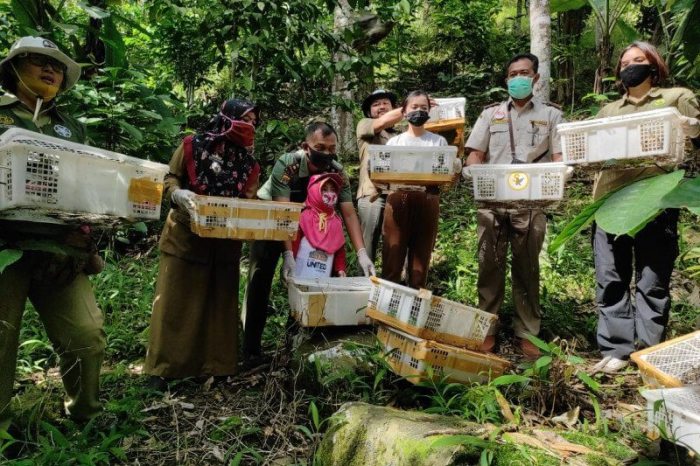
MULTIPOLYGON (((621 99, 611 102, 600 109, 596 118, 629 115, 630 113, 656 110, 664 107, 676 107, 681 114, 700 118, 700 105, 693 91, 683 87, 671 87, 661 89, 653 87, 649 92, 636 101, 625 95, 621 99)), ((608 169, 596 174, 593 185, 593 199, 597 200, 605 196, 610 191, 614 191, 621 186, 650 176, 666 173, 672 167, 635 167, 608 169)))

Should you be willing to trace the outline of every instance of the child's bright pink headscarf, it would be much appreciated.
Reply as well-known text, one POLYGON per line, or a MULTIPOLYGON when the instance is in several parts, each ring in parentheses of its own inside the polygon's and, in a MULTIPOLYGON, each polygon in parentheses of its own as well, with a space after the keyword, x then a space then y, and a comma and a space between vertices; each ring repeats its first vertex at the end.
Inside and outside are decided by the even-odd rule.
MULTIPOLYGON (((335 184, 338 193, 343 179, 336 173, 313 175, 309 180, 305 208, 299 219, 299 227, 312 247, 334 254, 345 244, 343 222, 335 212, 336 206, 323 202, 323 185, 335 184)), ((337 203, 336 203, 337 205, 337 203)))

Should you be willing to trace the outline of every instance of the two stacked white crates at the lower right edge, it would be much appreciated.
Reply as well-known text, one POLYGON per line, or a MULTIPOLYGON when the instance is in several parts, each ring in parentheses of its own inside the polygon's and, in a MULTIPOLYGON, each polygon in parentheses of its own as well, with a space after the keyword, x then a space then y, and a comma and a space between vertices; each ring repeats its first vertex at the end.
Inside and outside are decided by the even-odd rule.
POLYGON ((700 454, 700 331, 632 354, 647 387, 647 419, 700 454))

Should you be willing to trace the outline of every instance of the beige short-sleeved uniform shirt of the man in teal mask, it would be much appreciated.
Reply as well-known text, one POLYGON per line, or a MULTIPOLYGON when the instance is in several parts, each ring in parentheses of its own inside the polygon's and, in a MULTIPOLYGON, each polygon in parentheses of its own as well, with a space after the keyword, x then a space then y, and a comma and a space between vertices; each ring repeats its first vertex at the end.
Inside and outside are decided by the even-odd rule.
POLYGON ((509 118, 513 125, 517 160, 531 163, 546 154, 537 161, 551 162, 552 154, 561 152, 557 125, 564 122, 564 115, 554 104, 536 99, 530 100, 520 110, 512 99, 484 108, 465 144, 467 150, 485 152, 486 163, 512 163, 509 118))

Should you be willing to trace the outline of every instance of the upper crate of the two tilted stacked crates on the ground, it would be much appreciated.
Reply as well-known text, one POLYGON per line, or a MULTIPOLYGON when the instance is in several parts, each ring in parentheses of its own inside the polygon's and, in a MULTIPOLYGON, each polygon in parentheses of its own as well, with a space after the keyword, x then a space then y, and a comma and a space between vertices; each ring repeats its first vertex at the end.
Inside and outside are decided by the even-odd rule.
POLYGON ((411 335, 479 349, 497 316, 388 280, 371 277, 367 315, 411 335))

